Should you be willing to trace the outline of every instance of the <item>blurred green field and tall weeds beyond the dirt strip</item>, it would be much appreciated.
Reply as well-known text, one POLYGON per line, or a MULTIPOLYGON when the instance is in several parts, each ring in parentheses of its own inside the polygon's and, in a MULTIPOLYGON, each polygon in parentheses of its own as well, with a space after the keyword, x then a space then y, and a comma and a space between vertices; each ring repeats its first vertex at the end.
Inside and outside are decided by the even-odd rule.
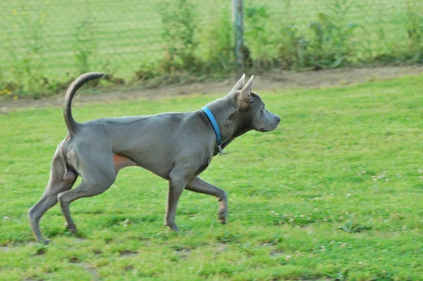
POLYGON ((90 70, 123 85, 423 61, 422 0, 233 2, 1 1, 0 90, 46 96, 90 70))

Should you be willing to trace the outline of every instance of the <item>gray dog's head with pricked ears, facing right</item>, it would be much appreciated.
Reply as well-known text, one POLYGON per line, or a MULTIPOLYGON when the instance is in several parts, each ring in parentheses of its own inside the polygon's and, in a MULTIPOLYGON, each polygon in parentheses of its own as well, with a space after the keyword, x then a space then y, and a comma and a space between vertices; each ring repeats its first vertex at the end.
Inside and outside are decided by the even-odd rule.
POLYGON ((244 125, 251 130, 259 132, 275 130, 281 118, 266 110, 260 96, 251 92, 254 76, 251 76, 246 84, 244 79, 245 75, 241 77, 229 93, 235 105, 235 112, 243 120, 244 125))

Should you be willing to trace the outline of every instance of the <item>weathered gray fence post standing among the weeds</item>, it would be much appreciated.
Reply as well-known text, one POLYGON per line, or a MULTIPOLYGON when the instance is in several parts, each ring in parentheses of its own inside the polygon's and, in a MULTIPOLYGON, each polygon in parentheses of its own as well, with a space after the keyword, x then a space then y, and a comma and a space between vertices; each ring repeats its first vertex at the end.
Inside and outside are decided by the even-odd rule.
POLYGON ((244 26, 243 26, 244 0, 232 0, 232 20, 235 28, 235 59, 238 70, 244 70, 244 26))

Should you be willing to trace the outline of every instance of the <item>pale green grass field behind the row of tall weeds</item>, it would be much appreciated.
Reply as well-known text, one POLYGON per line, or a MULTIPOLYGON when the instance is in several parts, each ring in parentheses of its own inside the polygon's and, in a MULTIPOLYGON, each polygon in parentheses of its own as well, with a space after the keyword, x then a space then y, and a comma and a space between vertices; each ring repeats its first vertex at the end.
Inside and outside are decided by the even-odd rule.
MULTIPOLYGON (((153 69, 152 65, 166 57, 168 42, 162 37, 160 11, 164 3, 170 2, 4 1, 0 4, 0 87, 17 85, 14 87, 20 88, 19 96, 45 95, 56 90, 57 83, 94 69, 131 80, 137 70, 153 69)), ((217 21, 224 15, 231 17, 231 4, 226 0, 190 2, 195 6, 195 56, 202 58, 209 46, 216 44, 215 33, 221 32, 217 21)), ((419 0, 245 1, 246 11, 259 11, 260 7, 264 7, 266 15, 253 14, 259 17, 257 23, 262 29, 254 30, 252 20, 245 18, 245 44, 253 59, 278 57, 278 46, 288 37, 281 34, 286 25, 297 25, 299 33, 295 36, 311 40, 308 25, 318 20, 319 13, 338 17, 335 22, 340 27, 328 26, 324 30, 329 32, 325 33, 329 41, 338 40, 331 38, 331 30, 349 23, 359 25, 353 43, 336 43, 356 49, 350 61, 381 55, 376 61, 384 61, 385 56, 406 54, 411 44, 410 30, 419 30, 423 24, 423 2, 419 0), (411 7, 408 10, 407 4, 411 7)), ((418 39, 416 44, 422 44, 418 39)))

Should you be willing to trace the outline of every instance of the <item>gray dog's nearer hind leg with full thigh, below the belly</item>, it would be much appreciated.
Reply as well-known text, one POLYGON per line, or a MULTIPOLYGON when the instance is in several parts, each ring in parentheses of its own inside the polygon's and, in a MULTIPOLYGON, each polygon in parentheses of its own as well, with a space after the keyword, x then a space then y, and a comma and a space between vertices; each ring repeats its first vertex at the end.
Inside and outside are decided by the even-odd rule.
POLYGON ((66 219, 67 228, 71 232, 76 232, 76 225, 71 218, 69 204, 76 199, 102 194, 109 189, 116 180, 116 170, 112 158, 113 156, 110 156, 109 159, 99 158, 94 163, 85 162, 85 168, 80 171, 81 184, 75 189, 58 195, 61 211, 66 219))

